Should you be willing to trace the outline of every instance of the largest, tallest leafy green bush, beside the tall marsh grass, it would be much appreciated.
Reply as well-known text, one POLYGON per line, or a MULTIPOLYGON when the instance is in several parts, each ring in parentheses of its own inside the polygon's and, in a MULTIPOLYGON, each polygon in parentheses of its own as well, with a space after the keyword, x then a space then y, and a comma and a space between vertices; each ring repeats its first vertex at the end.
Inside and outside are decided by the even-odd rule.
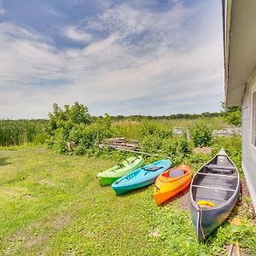
POLYGON ((48 145, 58 153, 67 154, 67 142, 73 141, 76 143, 73 154, 91 155, 102 140, 112 136, 108 113, 93 123, 88 109, 78 102, 72 107, 66 105, 64 110, 57 104, 53 107, 53 113, 49 113, 48 145))

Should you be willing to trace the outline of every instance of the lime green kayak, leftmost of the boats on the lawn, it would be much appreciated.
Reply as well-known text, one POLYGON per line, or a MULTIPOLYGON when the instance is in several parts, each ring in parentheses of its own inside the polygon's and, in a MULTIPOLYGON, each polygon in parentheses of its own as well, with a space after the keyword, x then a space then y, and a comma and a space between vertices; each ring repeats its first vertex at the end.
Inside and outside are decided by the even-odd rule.
POLYGON ((113 166, 105 172, 99 172, 97 178, 102 186, 111 185, 113 182, 143 166, 143 157, 130 157, 127 160, 113 166))

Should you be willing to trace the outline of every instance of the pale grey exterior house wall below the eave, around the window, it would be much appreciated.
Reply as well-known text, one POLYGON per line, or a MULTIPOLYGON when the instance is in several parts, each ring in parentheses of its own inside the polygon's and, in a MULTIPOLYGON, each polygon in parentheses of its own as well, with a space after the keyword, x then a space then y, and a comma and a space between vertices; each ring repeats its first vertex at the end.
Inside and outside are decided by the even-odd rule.
POLYGON ((256 147, 252 144, 252 91, 254 90, 256 90, 256 72, 253 73, 252 79, 248 81, 241 105, 241 162, 247 180, 247 187, 256 210, 256 147))

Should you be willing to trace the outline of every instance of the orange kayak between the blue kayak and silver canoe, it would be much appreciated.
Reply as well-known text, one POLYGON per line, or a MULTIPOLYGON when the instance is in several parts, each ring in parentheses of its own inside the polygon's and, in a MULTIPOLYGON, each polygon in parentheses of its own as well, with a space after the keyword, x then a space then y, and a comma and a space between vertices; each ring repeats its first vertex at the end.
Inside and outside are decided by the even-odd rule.
POLYGON ((189 166, 179 165, 160 174, 154 183, 154 200, 162 204, 189 186, 192 172, 189 166))

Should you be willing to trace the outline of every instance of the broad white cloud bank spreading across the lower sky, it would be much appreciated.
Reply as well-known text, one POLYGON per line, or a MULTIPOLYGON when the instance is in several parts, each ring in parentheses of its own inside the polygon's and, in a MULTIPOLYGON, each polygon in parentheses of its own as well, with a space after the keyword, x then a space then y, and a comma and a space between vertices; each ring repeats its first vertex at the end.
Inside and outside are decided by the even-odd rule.
POLYGON ((84 49, 56 49, 36 32, 0 24, 1 116, 45 118, 53 102, 75 101, 93 114, 216 110, 223 94, 221 16, 219 24, 202 18, 214 34, 208 26, 195 33, 184 25, 193 11, 180 4, 165 13, 107 9, 83 28, 64 30, 90 41, 84 49), (108 36, 93 41, 93 30, 108 36))

